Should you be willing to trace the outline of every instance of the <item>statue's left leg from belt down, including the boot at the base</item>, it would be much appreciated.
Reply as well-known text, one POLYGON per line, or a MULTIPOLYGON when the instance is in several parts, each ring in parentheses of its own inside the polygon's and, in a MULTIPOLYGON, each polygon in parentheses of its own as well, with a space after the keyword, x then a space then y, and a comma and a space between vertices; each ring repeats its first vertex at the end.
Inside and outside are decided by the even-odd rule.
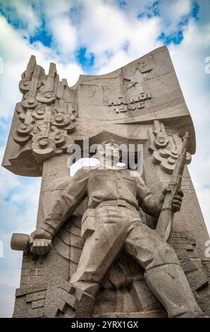
MULTIPOLYGON (((63 290, 65 301, 68 300, 68 316, 89 316, 92 312, 101 280, 128 237, 127 220, 122 208, 106 206, 97 209, 97 220, 95 226, 90 227, 78 269, 70 278, 68 290, 63 290)), ((62 316, 62 313, 66 314, 63 302, 57 316, 62 316)))

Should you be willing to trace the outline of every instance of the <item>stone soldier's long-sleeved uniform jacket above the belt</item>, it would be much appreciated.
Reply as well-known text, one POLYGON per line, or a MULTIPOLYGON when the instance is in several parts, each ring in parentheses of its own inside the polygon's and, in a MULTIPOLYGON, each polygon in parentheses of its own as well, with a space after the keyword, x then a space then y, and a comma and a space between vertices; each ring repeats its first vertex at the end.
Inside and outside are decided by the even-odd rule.
POLYGON ((159 200, 152 194, 137 172, 122 170, 120 167, 102 169, 85 167, 69 178, 69 184, 61 196, 52 204, 50 213, 44 218, 42 228, 55 235, 82 200, 88 196, 88 210, 83 220, 92 209, 101 204, 116 204, 136 210, 138 204, 150 215, 159 215, 159 200))

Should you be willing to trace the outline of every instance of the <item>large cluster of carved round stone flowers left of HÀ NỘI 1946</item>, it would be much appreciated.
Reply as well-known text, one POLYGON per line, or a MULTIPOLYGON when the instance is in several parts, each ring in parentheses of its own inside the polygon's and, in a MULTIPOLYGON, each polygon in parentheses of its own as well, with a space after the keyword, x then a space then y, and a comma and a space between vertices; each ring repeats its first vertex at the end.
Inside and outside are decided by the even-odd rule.
POLYGON ((32 140, 32 150, 37 154, 51 153, 56 148, 62 148, 66 135, 75 130, 75 115, 58 112, 47 112, 47 105, 56 100, 51 80, 29 80, 23 73, 19 83, 23 93, 23 101, 16 105, 16 112, 21 124, 13 132, 13 139, 19 145, 32 140))

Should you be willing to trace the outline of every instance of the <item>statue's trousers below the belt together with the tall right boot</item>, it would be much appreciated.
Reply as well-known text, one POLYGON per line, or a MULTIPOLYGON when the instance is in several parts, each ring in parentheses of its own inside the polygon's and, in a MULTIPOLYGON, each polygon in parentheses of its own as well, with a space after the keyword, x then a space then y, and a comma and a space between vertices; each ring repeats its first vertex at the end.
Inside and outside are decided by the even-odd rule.
POLYGON ((169 317, 203 314, 175 252, 141 222, 137 211, 120 206, 101 206, 87 211, 82 235, 87 239, 78 270, 70 279, 75 287, 95 296, 113 259, 124 249, 144 268, 147 285, 169 317))

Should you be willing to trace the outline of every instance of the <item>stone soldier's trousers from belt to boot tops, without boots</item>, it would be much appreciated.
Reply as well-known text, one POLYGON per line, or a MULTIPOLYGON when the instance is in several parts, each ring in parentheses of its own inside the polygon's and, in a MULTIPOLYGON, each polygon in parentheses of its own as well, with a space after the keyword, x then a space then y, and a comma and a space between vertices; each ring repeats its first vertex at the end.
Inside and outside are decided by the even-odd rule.
POLYGON ((135 210, 101 206, 87 211, 82 221, 82 235, 87 239, 71 282, 100 283, 121 249, 134 257, 145 271, 168 263, 180 265, 173 249, 142 223, 135 210))

